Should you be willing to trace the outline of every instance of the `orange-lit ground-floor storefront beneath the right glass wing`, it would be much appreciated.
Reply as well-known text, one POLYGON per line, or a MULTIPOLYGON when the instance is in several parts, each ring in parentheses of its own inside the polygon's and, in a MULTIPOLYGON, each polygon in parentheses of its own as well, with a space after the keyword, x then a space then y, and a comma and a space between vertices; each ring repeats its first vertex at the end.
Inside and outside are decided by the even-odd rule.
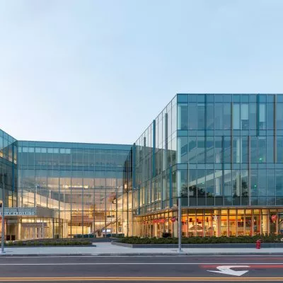
MULTIPOLYGON (((178 236, 177 212, 139 218, 139 236, 178 236)), ((183 209, 183 237, 255 236, 283 233, 283 209, 183 209)))

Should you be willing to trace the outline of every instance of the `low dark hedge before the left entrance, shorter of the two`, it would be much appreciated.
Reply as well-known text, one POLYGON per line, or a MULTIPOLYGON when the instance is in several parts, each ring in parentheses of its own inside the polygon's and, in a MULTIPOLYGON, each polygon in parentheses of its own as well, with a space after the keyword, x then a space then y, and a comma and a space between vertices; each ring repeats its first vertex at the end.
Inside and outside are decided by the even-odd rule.
POLYGON ((88 246, 91 241, 8 241, 5 246, 88 246))

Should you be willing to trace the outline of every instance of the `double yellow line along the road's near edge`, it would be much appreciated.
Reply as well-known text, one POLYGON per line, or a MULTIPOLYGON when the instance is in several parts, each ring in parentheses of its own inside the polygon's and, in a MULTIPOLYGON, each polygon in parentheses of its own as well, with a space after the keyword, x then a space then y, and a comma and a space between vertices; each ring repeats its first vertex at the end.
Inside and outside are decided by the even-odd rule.
POLYGON ((0 277, 1 282, 166 281, 166 282, 282 282, 283 277, 0 277))

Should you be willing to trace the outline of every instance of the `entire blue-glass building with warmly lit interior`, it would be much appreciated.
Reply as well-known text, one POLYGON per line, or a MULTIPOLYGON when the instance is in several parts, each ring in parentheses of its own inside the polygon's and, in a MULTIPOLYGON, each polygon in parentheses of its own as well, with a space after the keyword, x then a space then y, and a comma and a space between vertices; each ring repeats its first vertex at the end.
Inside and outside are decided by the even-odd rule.
MULTIPOLYGON (((178 94, 132 145, 0 131, 8 240, 283 233, 283 95, 178 94)), ((3 192, 0 192, 1 200, 3 192)))

